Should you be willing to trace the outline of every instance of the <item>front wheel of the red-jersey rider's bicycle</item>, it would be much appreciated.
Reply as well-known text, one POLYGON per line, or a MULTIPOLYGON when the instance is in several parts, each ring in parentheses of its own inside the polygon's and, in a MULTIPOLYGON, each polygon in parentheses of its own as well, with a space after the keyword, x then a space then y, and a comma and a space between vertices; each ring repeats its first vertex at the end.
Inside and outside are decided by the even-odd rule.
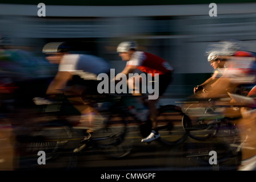
POLYGON ((123 158, 133 148, 132 140, 127 136, 129 119, 124 114, 110 114, 106 126, 93 133, 92 140, 111 158, 123 158))

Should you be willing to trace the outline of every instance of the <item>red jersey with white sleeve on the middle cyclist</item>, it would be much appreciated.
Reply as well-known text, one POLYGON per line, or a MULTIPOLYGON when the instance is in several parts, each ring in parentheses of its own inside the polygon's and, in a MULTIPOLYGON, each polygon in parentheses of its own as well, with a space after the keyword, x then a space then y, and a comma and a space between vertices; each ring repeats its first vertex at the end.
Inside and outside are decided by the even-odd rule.
POLYGON ((154 76, 154 73, 163 75, 173 71, 173 67, 161 57, 141 51, 134 52, 126 66, 137 66, 137 69, 145 73, 152 73, 152 76, 154 76))

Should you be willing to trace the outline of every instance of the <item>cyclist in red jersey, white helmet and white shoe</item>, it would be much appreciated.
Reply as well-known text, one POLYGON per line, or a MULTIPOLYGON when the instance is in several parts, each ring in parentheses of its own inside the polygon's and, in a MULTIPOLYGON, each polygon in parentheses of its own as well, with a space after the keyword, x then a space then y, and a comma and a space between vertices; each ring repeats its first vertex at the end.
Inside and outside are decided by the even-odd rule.
MULTIPOLYGON (((125 74, 127 77, 129 76, 129 73, 134 73, 136 69, 137 71, 142 71, 147 75, 151 73, 151 76, 155 78, 155 81, 157 80, 156 77, 159 78, 159 96, 162 96, 167 86, 172 81, 173 75, 173 68, 169 65, 169 63, 167 63, 167 61, 151 53, 137 51, 137 45, 135 42, 120 43, 117 47, 117 52, 119 53, 119 56, 122 58, 123 61, 127 61, 126 67, 121 73, 125 74), (155 75, 156 73, 159 75, 155 75)), ((117 79, 117 77, 115 79, 117 79)), ((141 89, 139 89, 138 86, 141 86, 143 79, 145 79, 145 77, 142 77, 141 75, 128 77, 128 87, 130 86, 130 89, 133 89, 134 91, 139 91, 139 93, 133 92, 133 95, 142 95, 141 89), (134 79, 139 80, 140 84, 134 84, 134 79), (131 82, 132 84, 129 84, 129 82, 131 82)), ((158 99, 159 97, 157 99, 147 100, 147 106, 149 107, 150 113, 149 119, 152 123, 152 131, 148 137, 142 139, 142 142, 151 142, 160 137, 157 130, 156 122, 158 114, 156 103, 158 99)), ((145 102, 143 104, 145 104, 145 102)))

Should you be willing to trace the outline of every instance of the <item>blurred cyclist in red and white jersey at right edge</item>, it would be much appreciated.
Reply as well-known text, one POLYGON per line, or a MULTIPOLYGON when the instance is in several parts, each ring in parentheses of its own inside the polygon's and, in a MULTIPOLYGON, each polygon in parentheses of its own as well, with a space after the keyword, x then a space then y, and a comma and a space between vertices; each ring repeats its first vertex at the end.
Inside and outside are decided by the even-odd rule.
MULTIPOLYGON (((227 46, 227 44, 226 44, 227 46)), ((240 105, 239 114, 241 117, 233 123, 240 130, 239 137, 241 137, 241 154, 242 161, 238 170, 256 170, 256 102, 249 97, 255 96, 255 90, 245 96, 234 94, 236 89, 245 84, 256 84, 256 53, 249 51, 240 51, 238 47, 229 44, 233 51, 226 52, 225 56, 227 61, 223 75, 218 78, 214 84, 211 85, 207 91, 208 98, 228 98, 231 97, 230 104, 233 106, 240 105), (248 103, 248 104, 247 104, 248 103)), ((219 50, 227 50, 225 44, 219 46, 219 50)), ((237 107, 228 107, 227 109, 237 110, 237 107)), ((226 115, 225 109, 223 113, 226 115)))

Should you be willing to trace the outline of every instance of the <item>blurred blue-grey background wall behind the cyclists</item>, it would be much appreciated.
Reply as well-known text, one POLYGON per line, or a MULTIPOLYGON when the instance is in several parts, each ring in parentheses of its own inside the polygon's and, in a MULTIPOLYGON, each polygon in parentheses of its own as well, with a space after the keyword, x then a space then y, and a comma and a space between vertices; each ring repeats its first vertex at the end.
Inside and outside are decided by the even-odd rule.
POLYGON ((38 3, 0 3, 0 35, 10 36, 14 48, 43 56, 47 42, 71 40, 79 52, 104 57, 119 72, 125 63, 115 52, 117 45, 136 40, 139 50, 173 65, 171 96, 192 94, 211 75, 209 44, 236 39, 256 52, 256 3, 251 1, 215 1, 217 16, 212 17, 210 1, 42 1, 46 16, 41 17, 38 3))

